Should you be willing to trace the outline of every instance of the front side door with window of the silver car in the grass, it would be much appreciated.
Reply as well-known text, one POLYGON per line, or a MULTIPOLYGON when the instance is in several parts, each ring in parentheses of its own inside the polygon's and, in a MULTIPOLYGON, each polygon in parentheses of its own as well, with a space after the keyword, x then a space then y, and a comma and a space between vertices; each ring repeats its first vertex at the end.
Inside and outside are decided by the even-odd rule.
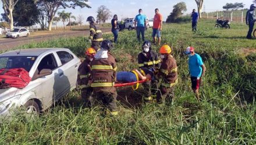
POLYGON ((55 102, 56 96, 61 93, 58 86, 58 64, 53 53, 49 53, 40 58, 41 60, 38 63, 38 66, 34 70, 35 73, 39 74, 42 69, 52 70, 52 74, 45 77, 37 78, 37 81, 41 82, 42 92, 44 97, 41 99, 42 104, 45 108, 51 106, 55 102))

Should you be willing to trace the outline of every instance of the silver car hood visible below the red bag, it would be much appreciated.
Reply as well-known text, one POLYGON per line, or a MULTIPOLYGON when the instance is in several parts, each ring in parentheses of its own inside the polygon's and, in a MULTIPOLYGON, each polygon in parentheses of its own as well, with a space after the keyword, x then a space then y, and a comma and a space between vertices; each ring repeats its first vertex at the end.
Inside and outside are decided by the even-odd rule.
POLYGON ((0 102, 10 99, 16 95, 19 95, 20 89, 17 88, 7 88, 0 89, 0 102))

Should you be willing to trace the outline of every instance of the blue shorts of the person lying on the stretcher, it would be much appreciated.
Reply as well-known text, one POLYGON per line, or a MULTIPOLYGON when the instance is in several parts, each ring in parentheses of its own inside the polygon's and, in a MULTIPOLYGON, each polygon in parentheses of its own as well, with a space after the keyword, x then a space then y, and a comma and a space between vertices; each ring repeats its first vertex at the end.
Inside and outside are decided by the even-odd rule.
POLYGON ((120 71, 116 74, 118 82, 137 82, 136 75, 130 71, 120 71))

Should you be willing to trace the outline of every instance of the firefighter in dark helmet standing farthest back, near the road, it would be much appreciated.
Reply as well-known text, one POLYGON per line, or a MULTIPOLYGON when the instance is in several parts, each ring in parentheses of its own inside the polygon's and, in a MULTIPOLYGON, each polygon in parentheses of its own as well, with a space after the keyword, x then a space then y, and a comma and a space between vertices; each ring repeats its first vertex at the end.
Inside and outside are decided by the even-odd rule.
POLYGON ((98 51, 101 46, 101 42, 103 41, 102 32, 99 29, 99 26, 95 25, 95 19, 93 16, 87 17, 86 21, 90 23, 89 40, 91 42, 91 47, 98 51))

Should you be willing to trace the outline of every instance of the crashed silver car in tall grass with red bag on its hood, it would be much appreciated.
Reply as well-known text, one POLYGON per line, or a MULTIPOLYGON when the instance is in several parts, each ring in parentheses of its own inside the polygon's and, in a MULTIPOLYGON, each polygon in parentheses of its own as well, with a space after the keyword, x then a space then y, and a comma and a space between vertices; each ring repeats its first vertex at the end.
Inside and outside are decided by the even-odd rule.
POLYGON ((0 89, 0 115, 15 107, 27 113, 41 112, 76 88, 80 59, 69 49, 38 48, 14 50, 0 55, 0 68, 24 68, 32 78, 23 89, 0 89))

